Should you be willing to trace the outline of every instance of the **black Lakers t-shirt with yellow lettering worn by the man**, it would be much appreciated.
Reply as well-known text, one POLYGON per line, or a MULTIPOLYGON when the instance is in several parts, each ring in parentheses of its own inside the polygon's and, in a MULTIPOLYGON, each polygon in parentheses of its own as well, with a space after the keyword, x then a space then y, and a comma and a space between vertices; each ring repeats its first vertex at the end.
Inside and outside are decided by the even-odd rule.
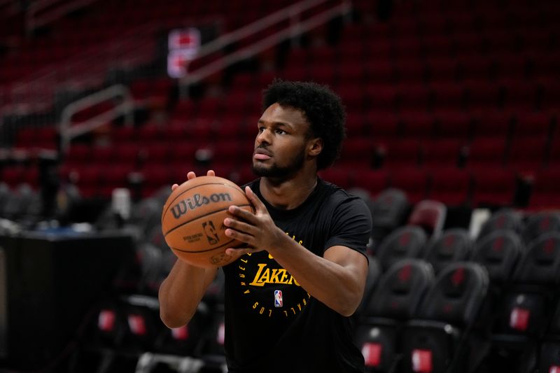
MULTIPOLYGON (((278 227, 316 255, 347 246, 365 255, 371 215, 362 199, 318 179, 300 206, 275 209, 249 184, 278 227)), ((230 372, 363 372, 351 321, 311 297, 267 251, 223 267, 225 354, 230 372)))

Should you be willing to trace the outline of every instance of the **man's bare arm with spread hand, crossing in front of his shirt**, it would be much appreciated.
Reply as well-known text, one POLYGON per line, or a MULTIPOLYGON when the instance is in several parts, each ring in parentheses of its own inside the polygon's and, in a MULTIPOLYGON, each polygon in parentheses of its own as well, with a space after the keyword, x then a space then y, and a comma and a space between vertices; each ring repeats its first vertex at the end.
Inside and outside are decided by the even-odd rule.
MULTIPOLYGON (((311 296, 339 314, 351 316, 363 297, 367 278, 365 256, 345 246, 332 246, 323 257, 311 253, 274 225, 266 207, 250 188, 246 188, 246 194, 256 213, 230 207, 230 212, 246 223, 225 219, 225 225, 232 228, 225 234, 268 251, 311 296)), ((251 248, 228 249, 228 254, 240 256, 254 251, 251 248)))

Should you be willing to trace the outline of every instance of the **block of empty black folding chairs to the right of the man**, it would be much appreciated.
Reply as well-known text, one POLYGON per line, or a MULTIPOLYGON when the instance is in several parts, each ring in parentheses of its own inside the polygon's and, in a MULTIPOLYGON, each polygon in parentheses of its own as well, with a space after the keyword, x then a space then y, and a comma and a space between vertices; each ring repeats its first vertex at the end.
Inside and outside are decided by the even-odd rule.
POLYGON ((498 211, 477 239, 398 227, 372 251, 357 316, 367 372, 553 371, 559 254, 557 213, 498 211))

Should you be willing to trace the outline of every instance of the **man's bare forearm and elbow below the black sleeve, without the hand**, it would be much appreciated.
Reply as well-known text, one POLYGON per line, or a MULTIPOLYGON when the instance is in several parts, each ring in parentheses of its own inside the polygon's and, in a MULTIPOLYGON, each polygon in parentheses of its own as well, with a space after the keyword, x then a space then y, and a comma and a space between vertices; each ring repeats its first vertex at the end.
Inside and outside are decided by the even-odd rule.
POLYGON ((312 297, 343 316, 356 311, 365 287, 365 258, 342 265, 311 253, 285 234, 269 253, 312 297))

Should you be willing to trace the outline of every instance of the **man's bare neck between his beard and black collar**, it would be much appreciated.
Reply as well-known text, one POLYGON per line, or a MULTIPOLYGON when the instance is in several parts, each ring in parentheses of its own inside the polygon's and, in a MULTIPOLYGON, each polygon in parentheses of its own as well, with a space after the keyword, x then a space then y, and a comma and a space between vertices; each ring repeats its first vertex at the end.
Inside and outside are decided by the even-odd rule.
POLYGON ((260 194, 276 209, 291 210, 300 206, 317 185, 316 174, 297 175, 287 180, 260 178, 260 194))

